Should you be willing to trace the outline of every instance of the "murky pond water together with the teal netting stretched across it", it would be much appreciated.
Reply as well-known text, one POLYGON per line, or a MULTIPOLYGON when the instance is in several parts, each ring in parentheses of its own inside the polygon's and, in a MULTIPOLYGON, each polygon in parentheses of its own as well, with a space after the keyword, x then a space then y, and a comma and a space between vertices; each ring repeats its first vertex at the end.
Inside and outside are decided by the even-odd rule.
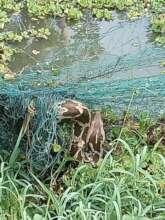
POLYGON ((44 108, 65 98, 95 110, 110 106, 117 114, 128 107, 136 115, 164 114, 165 76, 160 63, 165 50, 152 40, 150 18, 134 22, 124 14, 113 18, 97 21, 87 12, 81 22, 73 23, 65 18, 33 20, 26 14, 13 15, 6 31, 48 27, 51 35, 47 40, 30 38, 12 44, 22 52, 10 63, 17 73, 14 80, 0 78, 3 105, 16 106, 19 114, 35 99, 41 118, 47 117, 42 116, 44 111, 52 110, 44 108), (3 100, 6 96, 8 103, 3 100))

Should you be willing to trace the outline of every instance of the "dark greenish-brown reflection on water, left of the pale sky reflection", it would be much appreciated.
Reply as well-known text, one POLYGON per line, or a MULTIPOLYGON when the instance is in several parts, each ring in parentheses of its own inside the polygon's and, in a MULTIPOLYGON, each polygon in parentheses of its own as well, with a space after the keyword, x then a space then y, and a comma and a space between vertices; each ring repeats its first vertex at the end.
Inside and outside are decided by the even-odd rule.
POLYGON ((104 51, 99 40, 99 23, 90 16, 76 25, 67 22, 65 18, 34 21, 27 15, 18 16, 13 17, 7 30, 23 31, 34 27, 49 27, 51 36, 48 40, 30 38, 15 44, 22 50, 10 65, 15 72, 19 72, 24 66, 51 60, 57 66, 64 67, 79 60, 91 60, 104 51), (39 51, 38 55, 34 55, 33 50, 39 51))

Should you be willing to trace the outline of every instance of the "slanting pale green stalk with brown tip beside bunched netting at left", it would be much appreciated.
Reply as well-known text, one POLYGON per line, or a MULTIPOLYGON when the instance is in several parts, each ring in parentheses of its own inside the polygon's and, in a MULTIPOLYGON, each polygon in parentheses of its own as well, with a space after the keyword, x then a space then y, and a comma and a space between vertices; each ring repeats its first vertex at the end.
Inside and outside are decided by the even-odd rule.
POLYGON ((20 142, 21 142, 21 139, 23 138, 23 136, 25 135, 26 131, 27 131, 27 128, 28 128, 28 125, 29 125, 29 122, 30 120, 32 119, 32 117, 34 116, 34 113, 35 113, 35 108, 33 107, 32 103, 29 104, 28 106, 28 112, 25 116, 25 119, 23 121, 23 124, 22 124, 22 127, 21 127, 21 130, 19 132, 19 135, 18 135, 18 138, 17 138, 17 142, 14 146, 14 150, 10 156, 10 159, 9 159, 9 166, 13 166, 16 159, 17 159, 17 156, 18 156, 18 148, 19 148, 19 145, 20 145, 20 142))

